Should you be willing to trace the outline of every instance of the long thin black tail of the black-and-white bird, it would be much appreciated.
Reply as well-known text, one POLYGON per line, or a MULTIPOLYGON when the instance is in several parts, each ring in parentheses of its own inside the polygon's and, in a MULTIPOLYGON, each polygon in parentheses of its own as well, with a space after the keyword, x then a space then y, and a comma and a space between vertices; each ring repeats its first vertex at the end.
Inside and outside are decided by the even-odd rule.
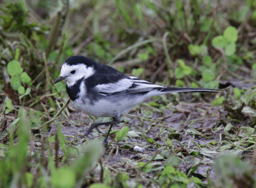
POLYGON ((220 93, 220 89, 205 89, 205 88, 192 88, 192 87, 164 87, 158 89, 162 92, 198 92, 198 93, 220 93))

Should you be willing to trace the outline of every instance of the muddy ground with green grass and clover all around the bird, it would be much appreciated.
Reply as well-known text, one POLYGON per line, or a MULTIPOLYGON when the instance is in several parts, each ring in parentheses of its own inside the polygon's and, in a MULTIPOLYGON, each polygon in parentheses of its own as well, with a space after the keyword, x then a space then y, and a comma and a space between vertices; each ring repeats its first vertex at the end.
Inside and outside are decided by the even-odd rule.
POLYGON ((255 186, 254 1, 0 7, 0 187, 255 186), (52 85, 78 54, 157 84, 223 91, 154 97, 104 149, 104 134, 84 134, 109 118, 76 110, 65 83, 52 85))

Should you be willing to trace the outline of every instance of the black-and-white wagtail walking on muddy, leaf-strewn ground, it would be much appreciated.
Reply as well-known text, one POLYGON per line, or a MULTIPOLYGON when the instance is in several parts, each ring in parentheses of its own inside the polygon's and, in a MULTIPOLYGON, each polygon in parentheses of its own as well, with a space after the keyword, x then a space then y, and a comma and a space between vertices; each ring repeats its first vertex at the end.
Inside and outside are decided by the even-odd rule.
POLYGON ((79 109, 96 117, 113 118, 113 121, 92 124, 86 133, 89 135, 94 128, 98 130, 100 125, 110 125, 103 141, 105 144, 112 126, 120 123, 120 115, 146 99, 172 92, 220 92, 219 89, 156 85, 82 55, 66 59, 53 84, 62 80, 66 80, 68 96, 79 109))

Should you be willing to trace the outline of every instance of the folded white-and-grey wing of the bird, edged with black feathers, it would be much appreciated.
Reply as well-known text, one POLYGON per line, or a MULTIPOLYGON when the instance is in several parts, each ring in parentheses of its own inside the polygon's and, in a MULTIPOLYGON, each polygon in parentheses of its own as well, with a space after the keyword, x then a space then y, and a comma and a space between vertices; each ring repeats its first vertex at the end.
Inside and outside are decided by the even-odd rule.
POLYGON ((163 88, 163 86, 155 85, 133 76, 120 79, 114 83, 98 84, 95 86, 95 89, 101 95, 110 95, 113 93, 140 93, 161 88, 163 88))

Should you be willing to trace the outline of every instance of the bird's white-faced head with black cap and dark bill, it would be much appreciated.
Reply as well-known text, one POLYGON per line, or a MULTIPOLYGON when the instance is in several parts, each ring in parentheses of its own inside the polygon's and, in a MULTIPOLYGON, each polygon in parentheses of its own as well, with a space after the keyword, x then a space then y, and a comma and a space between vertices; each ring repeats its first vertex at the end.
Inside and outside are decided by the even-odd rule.
POLYGON ((95 62, 87 57, 75 55, 66 59, 60 71, 60 76, 53 84, 66 80, 68 86, 72 86, 81 78, 88 78, 94 74, 95 62))

